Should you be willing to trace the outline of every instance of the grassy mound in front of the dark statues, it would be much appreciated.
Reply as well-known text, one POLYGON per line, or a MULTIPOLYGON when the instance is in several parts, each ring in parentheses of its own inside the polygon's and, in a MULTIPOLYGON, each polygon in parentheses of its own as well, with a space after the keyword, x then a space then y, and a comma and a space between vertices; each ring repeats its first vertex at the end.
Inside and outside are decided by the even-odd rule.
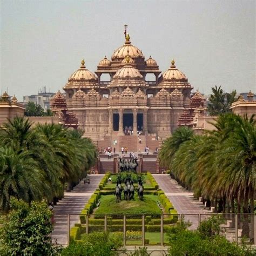
POLYGON ((161 214, 158 200, 158 196, 144 195, 144 200, 140 201, 135 193, 134 200, 116 203, 114 195, 101 196, 100 206, 93 214, 161 214))

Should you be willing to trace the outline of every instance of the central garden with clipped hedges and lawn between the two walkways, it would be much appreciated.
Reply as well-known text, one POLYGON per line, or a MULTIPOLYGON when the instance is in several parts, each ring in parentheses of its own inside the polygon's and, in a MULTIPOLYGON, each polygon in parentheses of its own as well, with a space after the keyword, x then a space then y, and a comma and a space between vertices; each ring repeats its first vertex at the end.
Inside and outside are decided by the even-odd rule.
POLYGON ((92 194, 81 212, 80 223, 71 228, 71 240, 80 240, 86 233, 95 231, 118 232, 124 237, 125 225, 126 244, 141 245, 144 225, 145 244, 159 244, 162 214, 165 214, 162 228, 163 232, 166 232, 177 222, 178 214, 164 192, 159 189, 151 173, 139 174, 139 176, 135 173, 122 173, 122 175, 118 174, 118 178, 117 174, 106 173, 100 181, 99 188, 92 194), (122 200, 116 203, 114 191, 117 179, 124 181, 126 176, 134 181, 135 190, 138 179, 143 180, 143 200, 138 198, 135 191, 134 199, 124 200, 122 196, 122 200), (137 237, 131 238, 130 232, 137 232, 137 237))

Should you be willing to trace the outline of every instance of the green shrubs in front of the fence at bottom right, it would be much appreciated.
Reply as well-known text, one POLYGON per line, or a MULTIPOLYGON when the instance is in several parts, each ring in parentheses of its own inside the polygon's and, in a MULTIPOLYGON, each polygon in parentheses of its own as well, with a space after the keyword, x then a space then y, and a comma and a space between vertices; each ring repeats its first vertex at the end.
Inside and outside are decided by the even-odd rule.
POLYGON ((256 251, 247 246, 229 242, 220 234, 221 219, 211 217, 201 222, 196 231, 187 230, 190 226, 181 219, 181 223, 167 231, 169 237, 169 255, 254 255, 256 251))

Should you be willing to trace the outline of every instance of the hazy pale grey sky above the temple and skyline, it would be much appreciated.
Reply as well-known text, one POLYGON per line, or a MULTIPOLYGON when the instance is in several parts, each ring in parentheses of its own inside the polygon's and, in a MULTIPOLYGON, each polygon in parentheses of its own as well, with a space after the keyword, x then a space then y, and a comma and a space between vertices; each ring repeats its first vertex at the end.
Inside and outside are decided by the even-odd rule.
POLYGON ((256 92, 256 1, 11 1, 1 2, 1 84, 19 100, 46 86, 56 92, 85 59, 97 69, 124 43, 164 72, 172 58, 201 92, 256 92))

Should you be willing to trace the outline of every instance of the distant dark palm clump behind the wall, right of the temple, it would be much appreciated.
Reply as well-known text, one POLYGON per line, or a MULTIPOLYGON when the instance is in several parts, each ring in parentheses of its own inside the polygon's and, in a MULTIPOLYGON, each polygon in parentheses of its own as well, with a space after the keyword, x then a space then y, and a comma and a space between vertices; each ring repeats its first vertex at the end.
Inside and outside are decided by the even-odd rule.
POLYGON ((218 116, 220 113, 231 112, 230 107, 236 98, 237 91, 233 90, 231 93, 224 93, 221 86, 212 87, 212 94, 209 98, 209 104, 207 107, 211 116, 218 116))

